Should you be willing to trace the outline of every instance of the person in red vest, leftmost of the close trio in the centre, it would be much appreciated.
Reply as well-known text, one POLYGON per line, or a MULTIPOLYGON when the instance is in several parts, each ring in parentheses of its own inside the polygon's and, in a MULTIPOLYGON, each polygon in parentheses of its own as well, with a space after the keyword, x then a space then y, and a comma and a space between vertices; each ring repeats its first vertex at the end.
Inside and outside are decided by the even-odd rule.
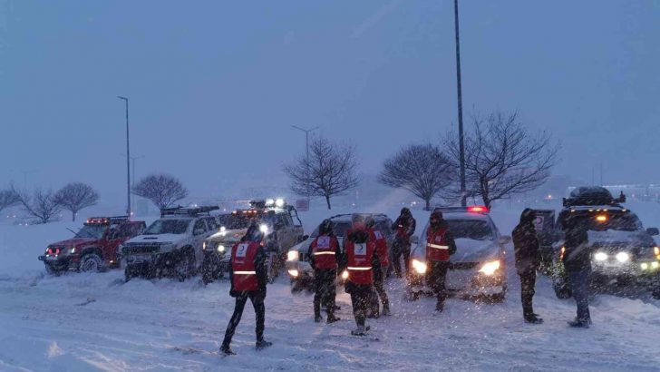
POLYGON ((321 318, 321 301, 327 308, 327 322, 334 323, 340 318, 335 317, 335 298, 337 278, 337 259, 341 256, 339 240, 333 232, 333 221, 324 220, 318 227, 318 236, 309 245, 307 257, 314 269, 314 321, 321 318))

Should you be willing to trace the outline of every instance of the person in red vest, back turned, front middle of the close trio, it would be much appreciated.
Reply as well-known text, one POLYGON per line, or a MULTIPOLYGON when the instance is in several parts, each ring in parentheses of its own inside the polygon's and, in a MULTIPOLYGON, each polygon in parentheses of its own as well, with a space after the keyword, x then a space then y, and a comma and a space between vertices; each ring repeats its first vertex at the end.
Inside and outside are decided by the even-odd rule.
POLYGON ((353 315, 357 328, 351 331, 354 336, 364 336, 369 327, 365 326, 369 297, 374 285, 374 259, 378 259, 376 243, 366 230, 364 216, 353 215, 353 229, 346 231, 344 239, 345 263, 348 271, 346 293, 351 295, 353 315))

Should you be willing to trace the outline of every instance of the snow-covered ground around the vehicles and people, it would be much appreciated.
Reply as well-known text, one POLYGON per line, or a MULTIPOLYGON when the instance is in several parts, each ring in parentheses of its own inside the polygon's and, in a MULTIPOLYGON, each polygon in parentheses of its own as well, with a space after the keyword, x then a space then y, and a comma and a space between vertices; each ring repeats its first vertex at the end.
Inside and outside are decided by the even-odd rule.
MULTIPOLYGON (((660 205, 630 208, 639 209, 645 225, 660 225, 660 205)), ((493 213, 502 233, 518 213, 504 207, 493 213)), ((310 230, 327 215, 301 218, 310 230)), ((428 213, 415 216, 423 225, 428 213)), ((572 329, 566 321, 575 316, 574 301, 556 299, 540 278, 535 308, 546 322, 532 326, 522 321, 513 272, 504 303, 449 299, 439 317, 432 316, 432 299, 407 302, 402 283, 391 279, 393 316, 371 321, 370 338, 349 336, 354 321, 345 293, 338 295, 342 321, 316 324, 311 296, 292 295, 280 278, 266 301, 274 346, 254 349, 248 306, 232 345, 238 356, 219 357, 233 310, 227 281, 124 283, 119 270, 45 276, 36 256, 75 226, 0 225, 0 370, 660 370, 660 301, 598 295, 594 326, 572 329)))

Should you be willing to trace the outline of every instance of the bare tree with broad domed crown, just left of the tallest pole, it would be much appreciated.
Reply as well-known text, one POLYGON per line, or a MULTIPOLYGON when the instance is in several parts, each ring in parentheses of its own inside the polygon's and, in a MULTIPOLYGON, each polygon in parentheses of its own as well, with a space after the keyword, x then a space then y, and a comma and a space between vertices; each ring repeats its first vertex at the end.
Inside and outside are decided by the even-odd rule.
POLYGON ((386 186, 411 191, 431 209, 431 201, 454 181, 454 167, 438 146, 412 144, 383 163, 378 181, 386 186))

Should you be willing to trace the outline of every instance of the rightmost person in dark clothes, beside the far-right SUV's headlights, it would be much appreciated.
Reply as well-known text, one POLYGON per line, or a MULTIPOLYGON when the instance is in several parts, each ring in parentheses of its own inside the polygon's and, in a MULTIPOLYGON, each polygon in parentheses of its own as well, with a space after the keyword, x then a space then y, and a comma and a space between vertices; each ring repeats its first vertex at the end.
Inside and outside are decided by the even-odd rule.
POLYGON ((586 217, 569 215, 562 220, 564 253, 562 261, 568 274, 573 298, 577 304, 577 317, 568 322, 575 328, 589 328, 588 288, 591 277, 591 250, 588 246, 588 222, 586 217))

